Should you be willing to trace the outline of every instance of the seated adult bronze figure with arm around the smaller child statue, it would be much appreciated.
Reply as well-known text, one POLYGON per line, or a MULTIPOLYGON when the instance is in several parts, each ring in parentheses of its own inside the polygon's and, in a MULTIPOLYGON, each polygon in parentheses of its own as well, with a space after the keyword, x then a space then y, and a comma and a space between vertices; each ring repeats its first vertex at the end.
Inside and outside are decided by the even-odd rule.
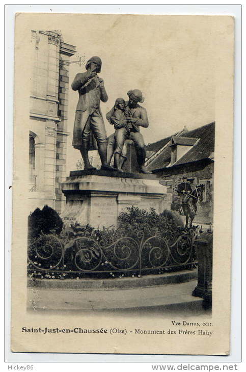
MULTIPOLYGON (((124 115, 126 118, 125 126, 120 130, 117 138, 115 137, 115 148, 123 149, 126 139, 132 140, 136 150, 136 158, 141 173, 152 173, 144 166, 146 151, 145 143, 142 134, 140 133, 140 126, 147 128, 149 126, 146 109, 138 104, 144 102, 144 97, 139 89, 129 90, 127 92, 129 101, 126 102, 124 115)), ((114 108, 111 110, 113 111, 114 108)), ((110 112, 107 114, 109 115, 110 112)))

